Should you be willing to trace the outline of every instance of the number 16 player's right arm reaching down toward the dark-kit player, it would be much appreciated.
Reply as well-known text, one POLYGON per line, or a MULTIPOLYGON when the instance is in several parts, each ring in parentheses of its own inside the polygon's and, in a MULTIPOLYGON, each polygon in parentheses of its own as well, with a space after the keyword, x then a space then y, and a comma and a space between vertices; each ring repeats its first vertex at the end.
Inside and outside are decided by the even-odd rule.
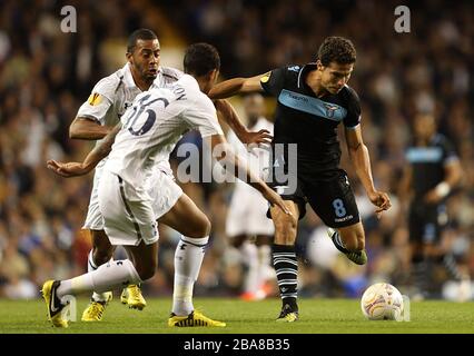
POLYGON ((238 155, 235 155, 230 146, 227 144, 226 138, 223 135, 210 136, 210 144, 213 152, 219 151, 221 155, 216 157, 220 162, 224 162, 226 169, 230 170, 235 177, 245 177, 245 182, 257 189, 268 202, 279 207, 285 214, 292 215, 286 207, 282 197, 271 190, 258 176, 254 175, 248 166, 243 162, 238 155), (220 146, 218 149, 217 147, 220 146), (243 172, 244 175, 239 175, 243 172))

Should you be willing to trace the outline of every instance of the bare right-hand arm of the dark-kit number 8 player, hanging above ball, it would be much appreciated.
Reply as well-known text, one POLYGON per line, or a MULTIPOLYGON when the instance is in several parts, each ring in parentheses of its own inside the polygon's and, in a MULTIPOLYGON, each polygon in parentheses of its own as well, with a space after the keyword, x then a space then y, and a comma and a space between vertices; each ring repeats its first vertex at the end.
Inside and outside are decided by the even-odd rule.
POLYGON ((357 177, 361 179, 368 198, 371 199, 372 204, 377 206, 375 212, 378 215, 383 210, 387 210, 392 205, 388 195, 384 191, 376 190, 374 187, 371 169, 371 157, 368 155, 367 146, 365 146, 362 139, 361 126, 355 128, 346 128, 345 135, 350 161, 354 164, 357 177))

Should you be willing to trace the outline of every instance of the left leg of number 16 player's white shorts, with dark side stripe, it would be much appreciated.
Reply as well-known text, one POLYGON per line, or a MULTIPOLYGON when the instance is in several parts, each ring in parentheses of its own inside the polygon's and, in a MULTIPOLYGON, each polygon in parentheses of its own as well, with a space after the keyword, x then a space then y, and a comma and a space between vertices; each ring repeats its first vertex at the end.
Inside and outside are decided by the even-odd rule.
POLYGON ((158 241, 158 224, 148 192, 103 171, 98 187, 103 229, 112 245, 138 246, 158 241))

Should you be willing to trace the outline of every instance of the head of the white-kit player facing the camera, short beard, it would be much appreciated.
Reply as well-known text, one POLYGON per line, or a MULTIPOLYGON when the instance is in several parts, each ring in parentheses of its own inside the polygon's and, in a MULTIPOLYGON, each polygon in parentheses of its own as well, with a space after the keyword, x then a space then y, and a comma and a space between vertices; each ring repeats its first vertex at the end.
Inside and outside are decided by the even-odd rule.
POLYGON ((148 86, 158 75, 159 53, 159 41, 154 31, 138 29, 129 36, 127 60, 131 65, 134 76, 139 76, 148 86))

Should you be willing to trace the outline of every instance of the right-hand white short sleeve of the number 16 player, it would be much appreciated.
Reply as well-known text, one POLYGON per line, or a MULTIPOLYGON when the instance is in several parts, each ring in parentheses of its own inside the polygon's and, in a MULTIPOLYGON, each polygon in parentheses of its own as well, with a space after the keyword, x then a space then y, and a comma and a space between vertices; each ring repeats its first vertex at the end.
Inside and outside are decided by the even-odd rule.
POLYGON ((205 95, 198 96, 195 102, 182 115, 191 128, 199 130, 201 137, 224 135, 217 120, 216 108, 213 101, 205 95))

